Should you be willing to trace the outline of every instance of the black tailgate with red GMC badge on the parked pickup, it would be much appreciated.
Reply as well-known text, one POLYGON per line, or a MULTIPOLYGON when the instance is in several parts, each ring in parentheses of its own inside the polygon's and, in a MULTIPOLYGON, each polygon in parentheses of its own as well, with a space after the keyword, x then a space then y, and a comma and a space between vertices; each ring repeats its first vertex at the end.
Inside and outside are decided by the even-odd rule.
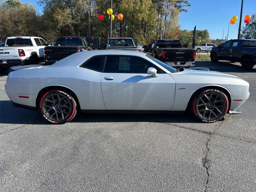
POLYGON ((164 50, 166 52, 165 59, 172 61, 192 61, 194 60, 194 50, 186 48, 168 48, 164 50))

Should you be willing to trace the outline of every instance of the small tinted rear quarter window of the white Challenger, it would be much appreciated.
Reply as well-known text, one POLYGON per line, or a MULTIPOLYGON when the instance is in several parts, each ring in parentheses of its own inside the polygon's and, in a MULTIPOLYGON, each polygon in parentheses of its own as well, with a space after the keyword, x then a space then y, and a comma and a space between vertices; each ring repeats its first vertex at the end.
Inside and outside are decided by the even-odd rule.
POLYGON ((90 58, 89 60, 84 62, 80 67, 102 72, 105 58, 106 56, 97 56, 90 58))

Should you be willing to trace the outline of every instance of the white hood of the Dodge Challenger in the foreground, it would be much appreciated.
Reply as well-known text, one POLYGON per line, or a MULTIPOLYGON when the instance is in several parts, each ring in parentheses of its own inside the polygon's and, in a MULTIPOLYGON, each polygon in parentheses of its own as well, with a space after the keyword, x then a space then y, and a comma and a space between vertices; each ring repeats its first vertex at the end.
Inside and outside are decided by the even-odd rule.
POLYGON ((184 69, 181 73, 187 75, 196 75, 196 76, 216 76, 216 77, 228 77, 228 78, 236 78, 241 79, 234 75, 225 74, 218 71, 202 71, 202 70, 193 70, 193 69, 184 69))

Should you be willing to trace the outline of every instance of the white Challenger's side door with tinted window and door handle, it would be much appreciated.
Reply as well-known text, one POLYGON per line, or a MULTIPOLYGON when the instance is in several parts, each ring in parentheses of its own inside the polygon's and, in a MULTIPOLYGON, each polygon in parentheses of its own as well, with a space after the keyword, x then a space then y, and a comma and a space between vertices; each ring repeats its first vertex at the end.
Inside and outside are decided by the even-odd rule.
POLYGON ((136 56, 107 56, 101 78, 107 110, 171 110, 175 81, 148 60, 136 56), (149 67, 158 77, 147 74, 149 67))

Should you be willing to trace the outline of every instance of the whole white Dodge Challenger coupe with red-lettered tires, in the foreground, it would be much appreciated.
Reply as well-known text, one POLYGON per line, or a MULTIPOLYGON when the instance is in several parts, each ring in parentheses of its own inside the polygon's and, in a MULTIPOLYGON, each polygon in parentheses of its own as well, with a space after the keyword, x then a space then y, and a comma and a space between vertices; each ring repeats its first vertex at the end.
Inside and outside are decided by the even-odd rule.
POLYGON ((16 107, 40 110, 52 123, 82 111, 185 111, 204 122, 238 114, 248 82, 215 71, 176 70, 142 52, 72 54, 51 66, 12 68, 5 85, 16 107))

